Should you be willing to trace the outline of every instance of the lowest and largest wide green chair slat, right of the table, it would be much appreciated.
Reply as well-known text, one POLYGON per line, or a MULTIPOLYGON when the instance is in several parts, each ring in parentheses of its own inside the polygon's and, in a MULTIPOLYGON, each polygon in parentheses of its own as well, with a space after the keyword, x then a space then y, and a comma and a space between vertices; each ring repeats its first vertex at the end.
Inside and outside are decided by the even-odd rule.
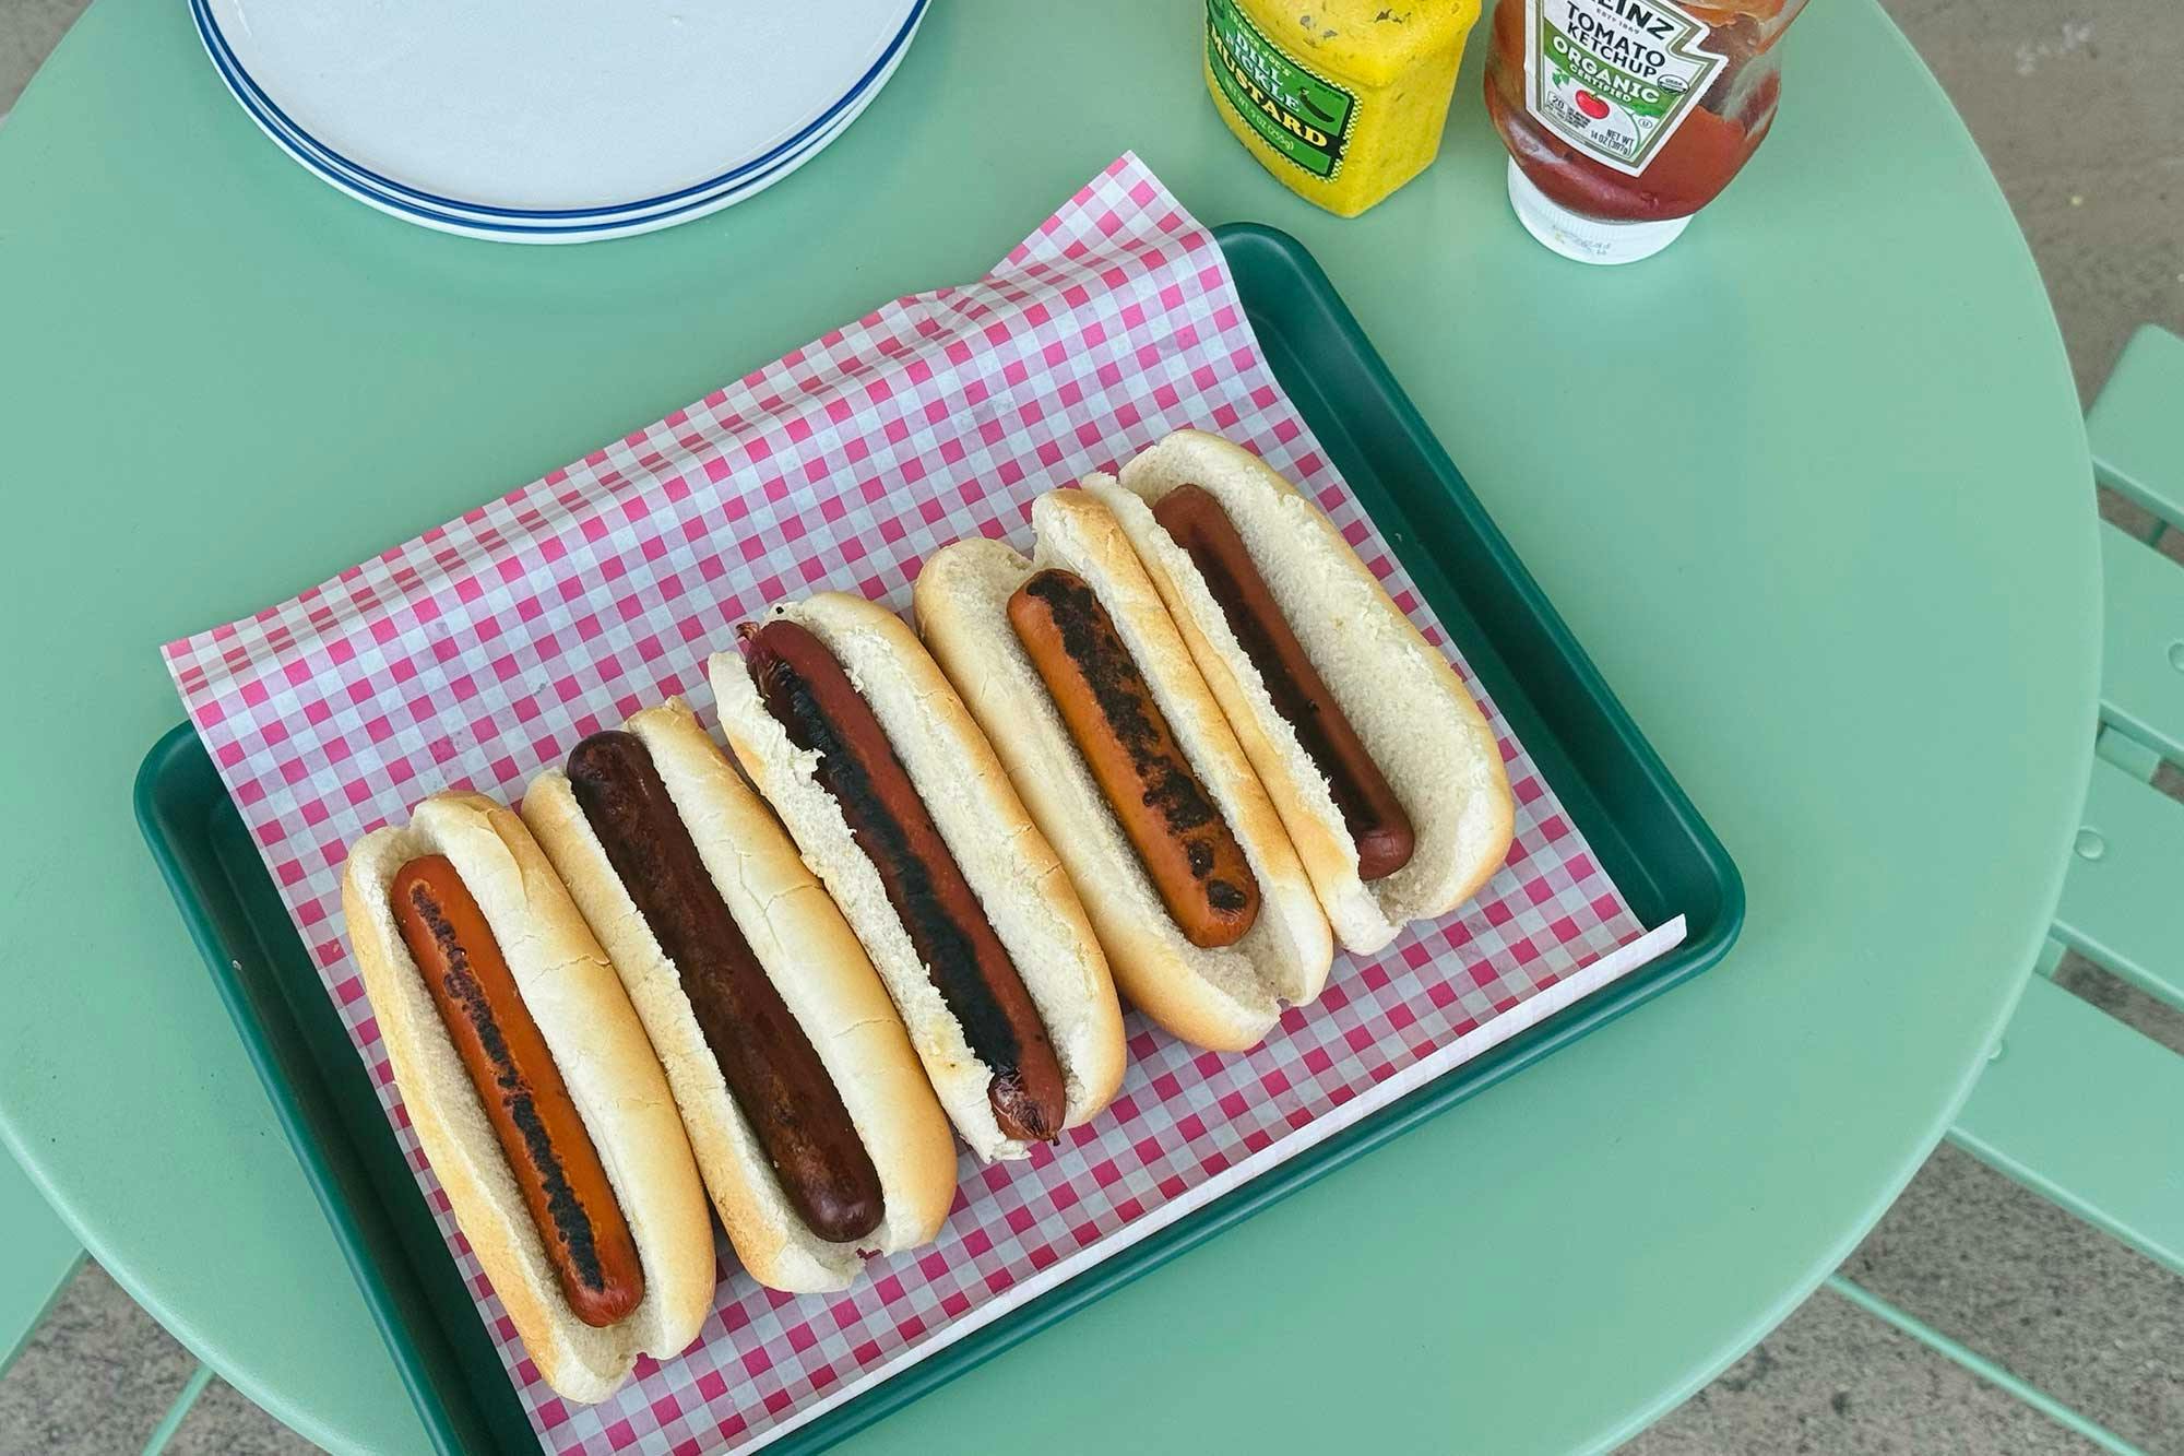
POLYGON ((2184 1272, 2184 1056, 2029 977, 1950 1141, 2184 1272))

